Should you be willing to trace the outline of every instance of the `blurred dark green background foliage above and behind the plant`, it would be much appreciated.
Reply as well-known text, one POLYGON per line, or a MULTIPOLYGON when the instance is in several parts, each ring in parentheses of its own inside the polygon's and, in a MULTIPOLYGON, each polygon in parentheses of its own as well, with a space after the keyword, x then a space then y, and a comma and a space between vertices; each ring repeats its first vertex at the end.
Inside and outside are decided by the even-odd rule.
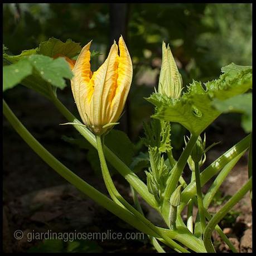
MULTIPOLYGON (((153 113, 143 97, 158 86, 162 41, 170 44, 184 85, 192 79, 215 79, 220 67, 230 62, 252 65, 249 3, 6 3, 3 44, 12 54, 20 54, 50 37, 62 41, 71 38, 82 46, 93 39, 91 49, 102 52, 93 59, 95 70, 104 61, 113 38, 120 34, 120 13, 125 16, 120 23, 124 22, 122 33, 134 67, 126 117, 133 141, 142 136, 142 121, 153 113)), ((61 94, 73 100, 70 90, 61 94)))

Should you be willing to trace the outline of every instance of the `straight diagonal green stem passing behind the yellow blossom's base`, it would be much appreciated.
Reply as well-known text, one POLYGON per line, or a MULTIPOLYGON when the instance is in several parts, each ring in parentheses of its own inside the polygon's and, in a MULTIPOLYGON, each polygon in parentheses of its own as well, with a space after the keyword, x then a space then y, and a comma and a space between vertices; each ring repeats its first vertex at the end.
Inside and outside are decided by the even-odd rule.
MULTIPOLYGON (((60 110, 62 115, 73 123, 81 124, 81 122, 69 112, 69 110, 60 102, 56 97, 52 98, 52 101, 56 105, 57 109, 60 110)), ((74 125, 74 128, 94 147, 96 148, 96 139, 93 133, 80 125, 74 125)), ((109 148, 104 147, 104 152, 107 160, 112 166, 134 187, 142 198, 151 205, 154 209, 158 209, 158 203, 154 196, 148 192, 147 185, 142 182, 139 177, 132 172, 124 162, 122 162, 109 148)))

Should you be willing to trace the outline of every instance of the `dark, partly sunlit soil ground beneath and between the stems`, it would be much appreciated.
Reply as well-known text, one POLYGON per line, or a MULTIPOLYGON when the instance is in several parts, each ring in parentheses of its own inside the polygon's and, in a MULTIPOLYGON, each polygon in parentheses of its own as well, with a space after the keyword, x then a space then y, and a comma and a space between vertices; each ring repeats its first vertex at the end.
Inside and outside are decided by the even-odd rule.
MULTIPOLYGON (((6 94, 6 101, 13 112, 54 156, 71 170, 102 192, 106 192, 101 177, 96 176, 85 158, 85 151, 76 149, 61 139, 61 135, 72 137, 75 131, 69 125, 58 125, 66 120, 53 104, 33 91, 17 88, 6 94), (18 100, 16 100, 18 98, 18 100)), ((64 94, 69 94, 64 91, 64 94)), ((62 95, 61 94, 61 95, 62 95)), ((73 102, 61 100, 71 111, 73 102)), ((116 216, 81 195, 73 186, 47 166, 3 118, 3 249, 4 252, 27 252, 38 245, 38 241, 13 238, 15 230, 24 234, 31 231, 53 230, 56 232, 137 232, 116 216)), ((225 152, 245 136, 240 122, 224 115, 206 131, 207 143, 222 141, 207 153, 205 165, 225 152), (213 136, 213 137, 212 137, 213 136), (209 137, 209 138, 208 138, 209 137)), ((185 176, 189 171, 185 171, 185 176)), ((186 178, 186 177, 185 177, 186 178)), ((247 155, 243 156, 220 187, 221 196, 233 195, 248 178, 247 155)), ((118 175, 114 176, 120 192, 131 199, 127 183, 118 175)), ((209 187, 206 184, 204 189, 209 187)), ((223 202, 222 202, 223 204, 223 202)), ((149 219, 160 224, 161 219, 142 202, 143 210, 149 219)), ((220 206, 215 204, 210 210, 215 212, 220 206)), ((186 218, 185 214, 183 216, 186 218)), ((252 207, 249 193, 230 212, 229 218, 220 223, 239 252, 252 252, 252 207), (233 219, 232 219, 233 218, 233 219), (233 220, 233 223, 230 222, 233 220)), ((215 245, 219 252, 229 252, 217 234, 215 245)), ((104 252, 155 252, 143 239, 96 240, 89 243, 89 251, 104 252)))

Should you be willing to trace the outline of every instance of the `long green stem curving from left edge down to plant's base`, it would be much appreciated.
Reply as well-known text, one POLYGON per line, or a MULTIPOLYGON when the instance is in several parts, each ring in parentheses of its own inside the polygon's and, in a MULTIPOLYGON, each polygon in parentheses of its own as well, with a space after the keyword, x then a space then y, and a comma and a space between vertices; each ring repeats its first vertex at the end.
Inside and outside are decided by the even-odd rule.
POLYGON ((99 205, 105 207, 108 211, 117 215, 120 219, 123 219, 125 222, 134 226, 138 230, 149 234, 149 235, 157 235, 151 229, 149 229, 143 223, 140 223, 137 218, 134 217, 131 212, 122 207, 116 205, 112 200, 110 200, 107 196, 94 189, 94 187, 90 186, 80 177, 75 175, 74 172, 70 171, 66 166, 64 166, 59 160, 57 160, 52 154, 47 151, 33 136, 24 125, 18 120, 16 115, 12 112, 12 110, 8 107, 7 103, 3 100, 3 114, 15 129, 15 131, 23 138, 23 140, 30 146, 33 151, 35 151, 38 156, 44 160, 47 165, 49 165, 52 169, 54 169, 60 176, 64 177, 65 180, 69 181, 73 184, 78 190, 83 192, 85 195, 89 196, 99 205))

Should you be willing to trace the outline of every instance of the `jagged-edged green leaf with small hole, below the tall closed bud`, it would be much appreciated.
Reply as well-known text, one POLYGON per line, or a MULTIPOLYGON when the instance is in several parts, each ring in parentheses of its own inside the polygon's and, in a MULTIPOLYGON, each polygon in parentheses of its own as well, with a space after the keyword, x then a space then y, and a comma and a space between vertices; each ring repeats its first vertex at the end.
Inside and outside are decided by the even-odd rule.
POLYGON ((179 99, 152 94, 147 100, 157 107, 153 118, 180 123, 192 134, 199 135, 221 114, 212 107, 212 100, 225 100, 252 88, 251 67, 235 72, 225 71, 219 79, 205 83, 205 88, 200 82, 193 81, 179 99))

